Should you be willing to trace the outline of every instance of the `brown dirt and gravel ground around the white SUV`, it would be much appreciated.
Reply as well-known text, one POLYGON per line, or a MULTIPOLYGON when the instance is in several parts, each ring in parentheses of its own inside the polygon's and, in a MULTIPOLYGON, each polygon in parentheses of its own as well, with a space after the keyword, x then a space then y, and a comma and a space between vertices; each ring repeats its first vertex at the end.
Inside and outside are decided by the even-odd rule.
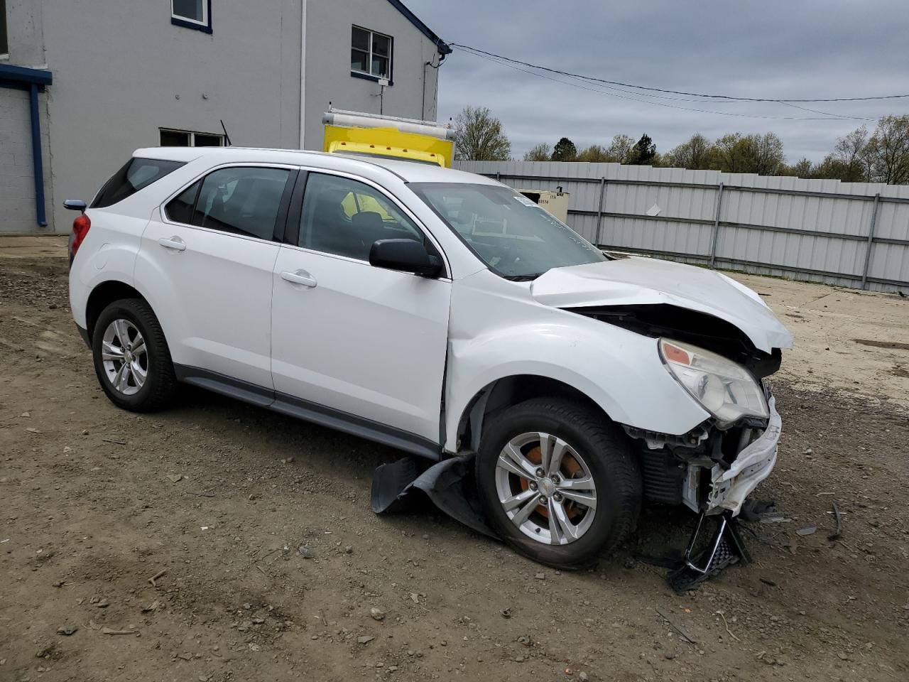
POLYGON ((389 448, 194 390, 115 409, 62 243, 0 241, 2 682, 909 678, 909 299, 741 277, 796 337, 757 491, 789 520, 677 597, 634 557, 684 546, 678 511, 560 573, 431 506, 376 517, 389 448))

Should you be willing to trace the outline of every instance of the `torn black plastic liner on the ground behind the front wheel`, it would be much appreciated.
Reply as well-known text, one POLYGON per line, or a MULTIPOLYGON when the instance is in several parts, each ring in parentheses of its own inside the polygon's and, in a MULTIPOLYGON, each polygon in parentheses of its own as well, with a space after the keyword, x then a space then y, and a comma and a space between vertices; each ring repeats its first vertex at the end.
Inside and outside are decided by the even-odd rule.
POLYGON ((375 469, 370 502, 376 514, 395 513, 414 489, 464 526, 498 537, 485 521, 474 485, 474 454, 450 457, 426 466, 424 459, 405 457, 375 469))

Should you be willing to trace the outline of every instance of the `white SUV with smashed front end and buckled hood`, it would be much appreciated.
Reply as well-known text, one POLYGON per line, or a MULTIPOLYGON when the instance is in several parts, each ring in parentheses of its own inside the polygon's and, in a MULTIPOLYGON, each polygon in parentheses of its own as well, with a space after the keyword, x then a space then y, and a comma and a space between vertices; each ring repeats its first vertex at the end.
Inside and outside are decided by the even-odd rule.
POLYGON ((738 513, 791 336, 711 270, 604 255, 493 180, 295 151, 140 149, 82 211, 70 301, 117 406, 204 386, 474 456, 488 523, 584 567, 643 500, 738 513))

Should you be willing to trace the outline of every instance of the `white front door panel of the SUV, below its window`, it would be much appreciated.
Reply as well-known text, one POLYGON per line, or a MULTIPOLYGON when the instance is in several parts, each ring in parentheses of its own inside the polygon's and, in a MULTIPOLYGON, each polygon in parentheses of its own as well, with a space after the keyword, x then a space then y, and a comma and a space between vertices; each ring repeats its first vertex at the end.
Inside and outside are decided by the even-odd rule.
POLYGON ((439 441, 451 282, 295 246, 275 264, 275 391, 439 441), (315 286, 286 281, 303 271, 315 286))

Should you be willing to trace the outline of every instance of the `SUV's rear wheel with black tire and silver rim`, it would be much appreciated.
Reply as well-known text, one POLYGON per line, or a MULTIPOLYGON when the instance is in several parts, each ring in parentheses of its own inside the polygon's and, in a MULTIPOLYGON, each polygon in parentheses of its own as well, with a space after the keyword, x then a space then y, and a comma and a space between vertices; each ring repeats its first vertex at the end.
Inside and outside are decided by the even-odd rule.
POLYGON ((154 412, 173 401, 177 381, 170 350, 158 318, 143 299, 124 298, 105 307, 95 322, 92 356, 98 383, 115 406, 154 412), (127 364, 128 371, 121 371, 127 364))

